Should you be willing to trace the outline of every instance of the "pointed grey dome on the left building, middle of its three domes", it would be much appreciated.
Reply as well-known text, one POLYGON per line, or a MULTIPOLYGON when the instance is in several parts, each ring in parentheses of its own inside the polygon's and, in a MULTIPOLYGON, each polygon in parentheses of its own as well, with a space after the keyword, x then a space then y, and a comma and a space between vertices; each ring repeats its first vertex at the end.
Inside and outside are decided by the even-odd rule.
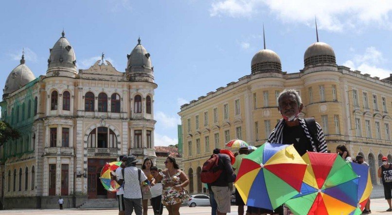
POLYGON ((64 31, 61 33, 60 39, 54 44, 53 48, 50 49, 50 55, 48 59, 48 71, 52 68, 69 68, 76 73, 76 57, 70 42, 65 38, 64 31))

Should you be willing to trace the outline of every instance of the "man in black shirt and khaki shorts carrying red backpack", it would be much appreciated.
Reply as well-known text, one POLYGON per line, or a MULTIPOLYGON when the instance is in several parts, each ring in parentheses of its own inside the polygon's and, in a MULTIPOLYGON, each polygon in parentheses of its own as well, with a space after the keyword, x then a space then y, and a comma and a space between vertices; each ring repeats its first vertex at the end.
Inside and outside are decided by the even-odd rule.
POLYGON ((217 205, 216 214, 226 215, 231 212, 231 190, 229 188, 229 183, 235 181, 236 175, 234 174, 229 155, 219 153, 217 154, 217 157, 218 168, 222 170, 222 172, 216 181, 211 182, 210 185, 217 205))

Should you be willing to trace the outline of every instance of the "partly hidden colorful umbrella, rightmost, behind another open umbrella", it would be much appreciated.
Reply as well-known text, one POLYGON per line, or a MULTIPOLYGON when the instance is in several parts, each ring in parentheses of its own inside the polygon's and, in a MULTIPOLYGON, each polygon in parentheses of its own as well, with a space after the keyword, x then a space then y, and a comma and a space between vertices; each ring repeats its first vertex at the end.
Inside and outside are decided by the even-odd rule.
POLYGON ((354 172, 359 176, 358 180, 358 193, 357 193, 357 208, 351 214, 362 214, 363 209, 372 194, 373 184, 370 178, 369 166, 368 165, 360 165, 356 163, 350 163, 354 172))

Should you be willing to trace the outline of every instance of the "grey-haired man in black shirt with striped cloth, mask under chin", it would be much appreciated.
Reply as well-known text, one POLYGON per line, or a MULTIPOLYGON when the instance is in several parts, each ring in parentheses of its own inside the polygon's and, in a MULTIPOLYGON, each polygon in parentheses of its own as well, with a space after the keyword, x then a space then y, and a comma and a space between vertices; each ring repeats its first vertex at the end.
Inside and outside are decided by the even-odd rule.
MULTIPOLYGON (((278 111, 282 119, 269 134, 268 142, 277 144, 293 144, 302 156, 306 151, 327 152, 324 133, 321 126, 313 117, 302 119, 299 117, 303 103, 300 95, 294 89, 284 90, 278 96, 278 111)), ((261 210, 261 213, 283 214, 283 207, 261 210)))

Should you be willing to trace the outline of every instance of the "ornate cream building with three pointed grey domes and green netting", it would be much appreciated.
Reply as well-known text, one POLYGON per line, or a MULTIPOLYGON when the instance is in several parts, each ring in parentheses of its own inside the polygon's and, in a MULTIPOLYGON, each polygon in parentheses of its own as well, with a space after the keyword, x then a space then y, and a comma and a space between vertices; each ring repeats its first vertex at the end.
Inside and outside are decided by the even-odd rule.
POLYGON ((65 33, 50 49, 46 75, 35 77, 24 56, 6 81, 1 119, 21 137, 1 147, 5 208, 78 207, 114 198, 100 182, 106 162, 134 154, 155 161, 153 66, 138 40, 125 72, 110 62, 76 67, 65 33), (55 197, 56 196, 56 197, 55 197))

